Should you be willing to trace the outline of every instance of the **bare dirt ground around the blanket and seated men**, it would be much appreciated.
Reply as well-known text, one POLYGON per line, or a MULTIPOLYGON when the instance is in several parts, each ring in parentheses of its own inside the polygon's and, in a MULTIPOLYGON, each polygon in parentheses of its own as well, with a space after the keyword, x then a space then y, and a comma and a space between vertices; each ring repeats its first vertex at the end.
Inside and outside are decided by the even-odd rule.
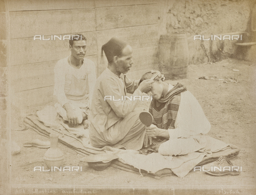
MULTIPOLYGON (((148 176, 108 167, 104 171, 94 171, 79 159, 82 155, 58 143, 65 154, 65 166, 83 166, 82 172, 34 172, 35 166, 45 166, 43 156, 47 149, 23 147, 32 139, 49 139, 31 129, 12 130, 12 140, 21 151, 12 156, 12 185, 29 186, 87 186, 90 188, 143 188, 143 189, 190 189, 175 194, 194 194, 193 189, 206 189, 201 194, 256 194, 255 191, 255 99, 256 64, 234 59, 218 63, 189 65, 186 79, 178 80, 198 99, 206 117, 211 123, 208 135, 226 143, 238 146, 241 151, 231 162, 242 166, 240 175, 211 176, 203 172, 191 171, 185 178, 166 176, 153 179, 148 176), (239 70, 239 71, 234 71, 239 70), (198 79, 205 77, 206 79, 198 79), (238 82, 237 82, 238 81, 238 82), (253 190, 254 189, 254 190, 253 190), (253 192, 254 191, 254 192, 253 192), (188 193, 189 192, 189 193, 188 193)), ((176 83, 177 81, 166 81, 176 83)), ((27 113, 36 109, 30 108, 27 113)), ((17 115, 13 120, 17 121, 17 115)), ((46 168, 46 166, 45 166, 46 168)), ((158 191, 160 192, 160 191, 158 191)), ((162 193, 162 192, 161 192, 162 193)), ((104 193, 102 193, 104 194, 104 193)), ((158 194, 152 192, 152 194, 158 194)), ((166 193, 169 194, 169 193, 166 193)))

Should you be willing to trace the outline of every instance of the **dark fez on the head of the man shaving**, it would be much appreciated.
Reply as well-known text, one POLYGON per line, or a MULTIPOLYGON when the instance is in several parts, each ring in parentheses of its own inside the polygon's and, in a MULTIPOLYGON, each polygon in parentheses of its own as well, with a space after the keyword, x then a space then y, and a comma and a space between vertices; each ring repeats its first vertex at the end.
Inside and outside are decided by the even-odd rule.
POLYGON ((125 48, 126 45, 127 44, 124 43, 124 41, 113 37, 108 41, 108 43, 101 47, 101 55, 102 50, 104 50, 108 62, 111 62, 113 61, 114 56, 118 56, 119 54, 121 54, 122 50, 125 48))

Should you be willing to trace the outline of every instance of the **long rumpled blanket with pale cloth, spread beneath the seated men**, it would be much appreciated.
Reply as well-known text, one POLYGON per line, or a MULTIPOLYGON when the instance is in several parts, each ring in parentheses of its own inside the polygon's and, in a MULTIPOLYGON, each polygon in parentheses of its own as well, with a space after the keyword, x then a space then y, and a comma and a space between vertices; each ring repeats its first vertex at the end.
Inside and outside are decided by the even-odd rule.
MULTIPOLYGON (((50 110, 53 112, 52 108, 50 108, 50 110)), ((63 122, 61 118, 58 117, 55 117, 57 119, 54 121, 45 121, 47 118, 42 117, 45 116, 44 112, 49 113, 49 110, 43 109, 42 111, 38 111, 37 116, 27 116, 24 120, 26 125, 47 137, 49 137, 50 133, 59 134, 59 141, 74 149, 79 154, 106 154, 106 152, 116 154, 119 159, 113 162, 113 166, 125 169, 126 171, 130 170, 131 172, 135 170, 141 173, 143 170, 144 173, 146 172, 158 178, 159 175, 161 175, 160 173, 166 176, 174 173, 179 177, 184 177, 198 164, 213 162, 216 158, 218 159, 218 157, 223 156, 223 154, 230 158, 239 153, 237 147, 230 147, 226 143, 211 137, 206 137, 207 145, 205 148, 182 156, 163 156, 155 152, 149 155, 142 155, 139 154, 139 151, 122 150, 109 146, 96 148, 89 143, 88 130, 84 130, 83 127, 79 125, 76 128, 70 127, 68 123, 63 122), (51 123, 54 124, 54 126, 51 126, 51 123), (134 167, 134 169, 131 167, 134 167), (165 170, 165 172, 163 172, 163 170, 165 170), (166 170, 169 171, 166 172, 166 170)), ((55 115, 53 114, 53 116, 55 115)))

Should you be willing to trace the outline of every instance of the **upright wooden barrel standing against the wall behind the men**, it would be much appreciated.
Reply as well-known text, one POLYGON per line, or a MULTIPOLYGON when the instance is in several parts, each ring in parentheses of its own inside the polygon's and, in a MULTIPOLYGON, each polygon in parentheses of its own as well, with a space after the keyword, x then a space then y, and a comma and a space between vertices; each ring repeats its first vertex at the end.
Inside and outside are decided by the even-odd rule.
POLYGON ((187 77, 189 52, 185 33, 161 35, 158 53, 159 71, 166 79, 178 80, 187 77))

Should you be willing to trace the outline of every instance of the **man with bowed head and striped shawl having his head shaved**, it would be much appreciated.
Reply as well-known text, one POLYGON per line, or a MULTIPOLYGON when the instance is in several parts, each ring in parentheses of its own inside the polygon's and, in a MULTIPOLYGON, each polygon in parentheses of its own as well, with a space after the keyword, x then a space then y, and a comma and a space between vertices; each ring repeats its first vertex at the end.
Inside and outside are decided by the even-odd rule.
MULTIPOLYGON (((144 74, 141 81, 152 77, 144 74)), ((158 77, 151 84, 151 101, 149 112, 153 115, 153 124, 146 128, 149 138, 161 137, 167 141, 154 146, 162 155, 186 155, 206 146, 204 134, 210 131, 211 125, 204 115, 196 98, 177 83, 168 84, 158 77)), ((149 146, 151 144, 149 140, 149 146)), ((146 143, 147 145, 148 143, 146 143)))

